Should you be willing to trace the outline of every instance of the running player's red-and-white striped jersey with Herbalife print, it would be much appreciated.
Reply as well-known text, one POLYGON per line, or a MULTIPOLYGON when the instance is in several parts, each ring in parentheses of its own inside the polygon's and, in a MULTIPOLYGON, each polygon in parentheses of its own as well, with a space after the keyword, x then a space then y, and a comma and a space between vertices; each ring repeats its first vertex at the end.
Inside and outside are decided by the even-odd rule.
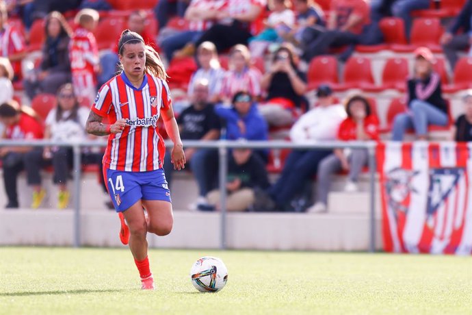
POLYGON ((107 116, 109 123, 124 118, 127 127, 120 134, 110 134, 103 156, 105 168, 118 171, 144 172, 161 168, 164 142, 157 129, 161 110, 171 106, 166 81, 144 75, 140 88, 135 88, 121 73, 100 88, 92 111, 107 116))

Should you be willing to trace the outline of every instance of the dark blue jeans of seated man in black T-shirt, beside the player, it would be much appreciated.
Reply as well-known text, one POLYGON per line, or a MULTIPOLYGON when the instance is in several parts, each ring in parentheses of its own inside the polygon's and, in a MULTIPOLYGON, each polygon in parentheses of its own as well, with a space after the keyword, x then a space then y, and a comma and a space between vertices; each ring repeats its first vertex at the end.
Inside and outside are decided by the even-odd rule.
MULTIPOLYGON (((218 151, 215 149, 198 149, 192 159, 187 162, 188 165, 194 173, 198 185, 198 195, 206 197, 207 193, 215 187, 216 176, 218 175, 218 151)), ((170 151, 166 152, 163 168, 170 188, 172 173, 174 172, 174 166, 170 162, 170 151)))

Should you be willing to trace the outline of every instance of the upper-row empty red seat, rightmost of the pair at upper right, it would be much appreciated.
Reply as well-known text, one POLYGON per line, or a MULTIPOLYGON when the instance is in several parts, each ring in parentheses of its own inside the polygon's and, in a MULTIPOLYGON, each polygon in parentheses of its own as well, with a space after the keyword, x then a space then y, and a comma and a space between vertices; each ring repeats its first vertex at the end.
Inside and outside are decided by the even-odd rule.
POLYGON ((436 53, 441 53, 443 49, 439 45, 439 39, 443 35, 443 27, 438 18, 416 18, 413 20, 411 29, 410 45, 392 45, 393 51, 405 53, 425 46, 436 53))

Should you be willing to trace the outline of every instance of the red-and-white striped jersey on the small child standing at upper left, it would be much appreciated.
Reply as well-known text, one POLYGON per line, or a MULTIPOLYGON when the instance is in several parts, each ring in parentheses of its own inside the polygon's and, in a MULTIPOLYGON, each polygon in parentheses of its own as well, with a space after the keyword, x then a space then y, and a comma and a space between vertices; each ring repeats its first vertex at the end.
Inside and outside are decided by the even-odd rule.
POLYGON ((94 34, 79 27, 75 30, 69 42, 70 69, 73 75, 91 73, 94 75, 95 66, 99 64, 99 47, 96 45, 94 34))

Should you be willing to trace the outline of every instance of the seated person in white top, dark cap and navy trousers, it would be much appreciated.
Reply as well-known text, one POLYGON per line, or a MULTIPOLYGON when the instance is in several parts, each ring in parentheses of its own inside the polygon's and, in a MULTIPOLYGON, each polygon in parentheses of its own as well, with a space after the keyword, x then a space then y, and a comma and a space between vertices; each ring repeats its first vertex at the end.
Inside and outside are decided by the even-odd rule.
MULTIPOLYGON (((343 105, 335 104, 329 86, 319 86, 317 90, 319 105, 293 125, 290 131, 292 142, 319 142, 335 140, 341 121, 346 118, 343 105)), ((267 190, 279 210, 287 210, 292 199, 304 188, 306 181, 317 173, 318 164, 332 150, 293 150, 285 161, 282 174, 276 183, 267 190)))

